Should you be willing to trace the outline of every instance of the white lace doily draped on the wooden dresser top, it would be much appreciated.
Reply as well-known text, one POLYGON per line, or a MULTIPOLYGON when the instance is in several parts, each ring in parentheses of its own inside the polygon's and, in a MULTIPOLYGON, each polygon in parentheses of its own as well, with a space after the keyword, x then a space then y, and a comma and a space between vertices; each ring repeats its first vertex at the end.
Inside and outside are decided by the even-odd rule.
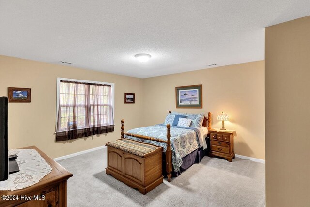
POLYGON ((0 190, 17 190, 32 186, 52 171, 51 166, 35 149, 12 149, 9 155, 17 154, 19 172, 9 175, 9 179, 0 181, 0 190))

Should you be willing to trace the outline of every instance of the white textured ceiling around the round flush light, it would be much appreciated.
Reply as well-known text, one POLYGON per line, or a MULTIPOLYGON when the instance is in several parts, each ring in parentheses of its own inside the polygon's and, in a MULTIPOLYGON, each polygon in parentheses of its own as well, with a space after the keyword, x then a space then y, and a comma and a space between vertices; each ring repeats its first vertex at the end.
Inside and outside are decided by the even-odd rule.
POLYGON ((153 77, 263 60, 265 27, 309 15, 310 0, 0 0, 0 54, 153 77))

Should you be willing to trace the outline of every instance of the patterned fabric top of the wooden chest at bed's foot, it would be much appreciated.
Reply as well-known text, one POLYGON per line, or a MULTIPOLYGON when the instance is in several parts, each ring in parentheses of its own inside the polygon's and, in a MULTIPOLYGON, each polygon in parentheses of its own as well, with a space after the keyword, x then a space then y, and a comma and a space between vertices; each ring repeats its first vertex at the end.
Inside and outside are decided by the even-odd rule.
POLYGON ((144 157, 146 153, 152 152, 158 147, 147 144, 147 143, 140 143, 134 140, 116 140, 114 142, 106 143, 107 146, 122 150, 124 152, 128 152, 133 155, 137 155, 139 157, 144 157))

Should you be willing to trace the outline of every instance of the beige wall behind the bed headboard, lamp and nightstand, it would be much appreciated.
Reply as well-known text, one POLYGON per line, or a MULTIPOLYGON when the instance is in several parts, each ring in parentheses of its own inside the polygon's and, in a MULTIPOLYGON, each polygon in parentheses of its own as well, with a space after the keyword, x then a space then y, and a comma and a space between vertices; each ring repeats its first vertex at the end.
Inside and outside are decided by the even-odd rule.
POLYGON ((265 159, 264 61, 235 64, 143 79, 143 125, 162 123, 168 111, 230 116, 225 127, 237 132, 235 153, 265 159), (202 84, 203 109, 176 109, 175 87, 202 84))

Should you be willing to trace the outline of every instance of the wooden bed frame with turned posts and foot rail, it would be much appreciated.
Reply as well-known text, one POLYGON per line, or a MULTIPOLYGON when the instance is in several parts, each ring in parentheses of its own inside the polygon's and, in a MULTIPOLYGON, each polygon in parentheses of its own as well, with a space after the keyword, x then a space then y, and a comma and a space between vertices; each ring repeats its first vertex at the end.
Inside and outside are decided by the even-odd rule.
MULTIPOLYGON (((171 111, 169 111, 169 113, 171 113, 171 111)), ((168 182, 171 182, 171 172, 172 172, 172 150, 171 150, 171 134, 170 134, 170 128, 171 125, 167 124, 167 141, 166 140, 162 140, 162 139, 158 139, 158 138, 154 138, 154 137, 148 137, 148 136, 143 136, 140 134, 132 134, 132 133, 126 133, 124 132, 124 119, 122 119, 121 121, 121 139, 124 139, 124 135, 130 136, 130 137, 136 137, 136 138, 140 138, 140 139, 144 139, 144 140, 151 140, 151 141, 156 141, 156 142, 160 142, 160 143, 166 143, 166 172, 167 172, 167 177, 168 177, 168 182)), ((207 127, 208 130, 211 129, 211 113, 208 113, 208 118, 204 117, 203 119, 203 123, 202 123, 203 127, 207 127)))

